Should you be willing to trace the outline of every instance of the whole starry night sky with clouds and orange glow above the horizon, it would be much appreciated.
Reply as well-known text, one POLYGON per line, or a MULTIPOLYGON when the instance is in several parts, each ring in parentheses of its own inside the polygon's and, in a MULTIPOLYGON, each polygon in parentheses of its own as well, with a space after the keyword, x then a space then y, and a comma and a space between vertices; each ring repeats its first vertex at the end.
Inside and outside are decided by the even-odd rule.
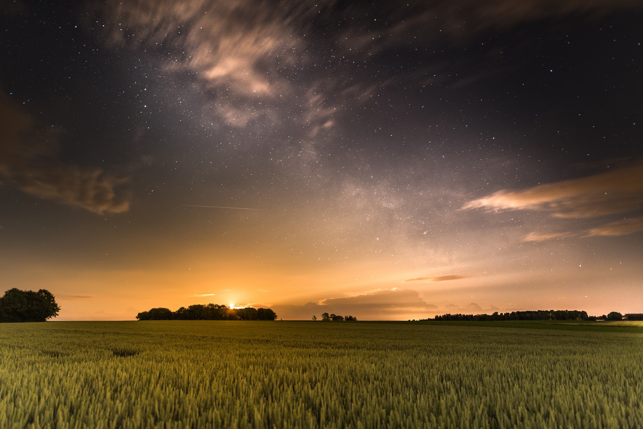
POLYGON ((57 320, 643 312, 640 0, 1 7, 0 286, 57 320))

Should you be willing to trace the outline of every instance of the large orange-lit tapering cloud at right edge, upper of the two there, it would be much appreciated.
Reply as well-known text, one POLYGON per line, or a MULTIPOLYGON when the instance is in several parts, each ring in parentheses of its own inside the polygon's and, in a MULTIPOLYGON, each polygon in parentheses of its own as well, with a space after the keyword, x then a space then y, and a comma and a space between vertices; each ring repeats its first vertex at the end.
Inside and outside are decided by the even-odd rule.
POLYGON ((579 179, 500 190, 466 203, 460 210, 542 210, 555 217, 597 217, 629 212, 643 204, 643 162, 579 179))

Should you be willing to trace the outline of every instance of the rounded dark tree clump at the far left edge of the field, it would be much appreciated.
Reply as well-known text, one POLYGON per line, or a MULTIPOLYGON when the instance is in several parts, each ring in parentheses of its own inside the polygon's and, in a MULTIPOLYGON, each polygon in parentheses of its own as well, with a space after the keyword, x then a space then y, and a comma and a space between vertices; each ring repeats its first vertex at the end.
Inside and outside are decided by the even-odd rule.
POLYGON ((58 316, 56 298, 46 289, 21 291, 13 288, 0 297, 0 322, 45 322, 58 316))

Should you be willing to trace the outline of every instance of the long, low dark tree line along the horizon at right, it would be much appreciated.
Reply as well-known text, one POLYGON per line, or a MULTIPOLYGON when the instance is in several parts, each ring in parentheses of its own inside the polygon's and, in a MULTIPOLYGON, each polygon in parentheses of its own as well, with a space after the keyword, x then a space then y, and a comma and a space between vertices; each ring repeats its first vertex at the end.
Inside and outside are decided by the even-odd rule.
POLYGON ((511 313, 498 313, 493 315, 461 315, 450 313, 442 316, 436 315, 433 319, 446 321, 475 321, 490 322, 493 320, 622 320, 623 316, 617 311, 608 315, 588 316, 586 311, 578 310, 537 310, 537 311, 512 311, 511 313))

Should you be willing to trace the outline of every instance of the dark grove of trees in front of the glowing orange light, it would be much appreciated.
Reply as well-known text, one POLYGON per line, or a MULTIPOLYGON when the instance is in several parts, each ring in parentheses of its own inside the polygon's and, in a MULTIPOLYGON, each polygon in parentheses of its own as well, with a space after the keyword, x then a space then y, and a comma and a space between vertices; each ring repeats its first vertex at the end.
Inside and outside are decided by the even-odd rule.
POLYGON ((158 307, 141 311, 138 320, 275 320, 277 315, 269 308, 230 308, 219 304, 194 304, 177 311, 158 307))

